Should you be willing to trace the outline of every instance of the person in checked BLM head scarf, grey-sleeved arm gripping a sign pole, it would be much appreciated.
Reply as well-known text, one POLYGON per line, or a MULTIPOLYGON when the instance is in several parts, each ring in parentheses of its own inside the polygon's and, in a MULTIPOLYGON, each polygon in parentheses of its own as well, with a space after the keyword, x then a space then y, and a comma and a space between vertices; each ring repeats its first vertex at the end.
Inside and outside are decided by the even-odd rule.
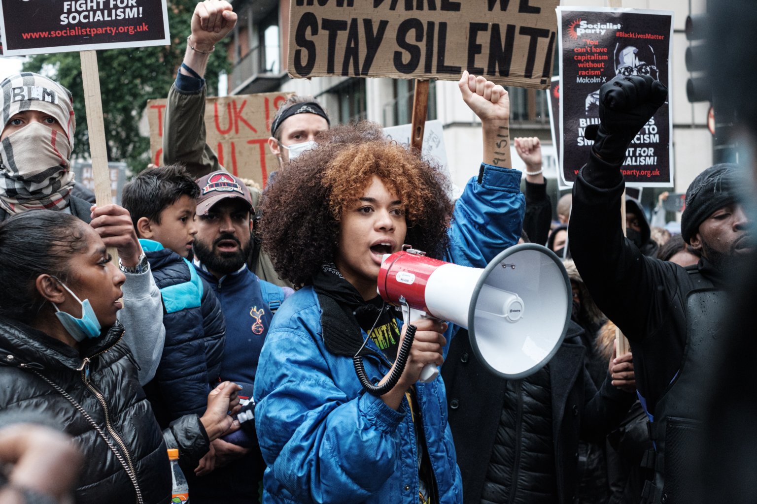
POLYGON ((125 308, 118 318, 128 331, 139 381, 155 375, 163 350, 163 304, 129 212, 117 205, 92 206, 73 196, 71 157, 76 117, 70 91, 58 82, 24 72, 0 82, 0 221, 31 210, 57 210, 90 223, 118 250, 126 274, 125 308))

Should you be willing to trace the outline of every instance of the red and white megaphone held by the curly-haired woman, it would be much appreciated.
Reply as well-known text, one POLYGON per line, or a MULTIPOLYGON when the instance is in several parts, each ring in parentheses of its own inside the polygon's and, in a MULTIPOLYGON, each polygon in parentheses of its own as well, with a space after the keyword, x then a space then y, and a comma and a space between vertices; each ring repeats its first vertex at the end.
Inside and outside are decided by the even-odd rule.
MULTIPOLYGON (((378 293, 403 308, 405 323, 434 317, 468 329, 476 357, 508 379, 528 376, 552 358, 572 310, 565 267, 554 252, 534 243, 509 247, 483 269, 413 249, 387 254, 378 293)), ((429 364, 420 381, 438 373, 429 364)))

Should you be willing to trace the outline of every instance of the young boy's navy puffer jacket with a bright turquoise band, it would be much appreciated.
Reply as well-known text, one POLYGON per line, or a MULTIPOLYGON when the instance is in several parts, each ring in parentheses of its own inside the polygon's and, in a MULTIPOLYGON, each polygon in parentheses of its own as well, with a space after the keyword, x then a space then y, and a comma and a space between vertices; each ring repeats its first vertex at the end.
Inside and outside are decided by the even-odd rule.
POLYGON ((153 240, 139 240, 163 298, 166 343, 145 393, 162 428, 202 415, 223 358, 226 321, 213 289, 186 259, 153 240))

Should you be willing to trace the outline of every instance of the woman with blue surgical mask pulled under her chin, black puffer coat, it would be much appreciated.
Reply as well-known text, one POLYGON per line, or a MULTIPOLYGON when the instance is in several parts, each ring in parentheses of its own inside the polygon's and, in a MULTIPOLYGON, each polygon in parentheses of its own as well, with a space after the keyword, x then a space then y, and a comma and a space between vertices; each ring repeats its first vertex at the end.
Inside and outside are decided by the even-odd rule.
POLYGON ((73 215, 38 210, 0 224, 0 410, 45 413, 74 438, 79 503, 168 502, 167 447, 194 468, 238 410, 238 385, 225 382, 203 416, 161 434, 116 318, 125 279, 73 215))

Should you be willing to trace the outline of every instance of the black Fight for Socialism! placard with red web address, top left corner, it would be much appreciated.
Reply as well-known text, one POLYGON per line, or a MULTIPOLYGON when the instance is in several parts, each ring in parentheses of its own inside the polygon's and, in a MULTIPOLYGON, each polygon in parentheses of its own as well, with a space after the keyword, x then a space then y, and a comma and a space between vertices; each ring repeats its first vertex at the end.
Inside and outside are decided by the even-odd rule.
POLYGON ((166 0, 0 0, 3 54, 169 45, 166 0))

